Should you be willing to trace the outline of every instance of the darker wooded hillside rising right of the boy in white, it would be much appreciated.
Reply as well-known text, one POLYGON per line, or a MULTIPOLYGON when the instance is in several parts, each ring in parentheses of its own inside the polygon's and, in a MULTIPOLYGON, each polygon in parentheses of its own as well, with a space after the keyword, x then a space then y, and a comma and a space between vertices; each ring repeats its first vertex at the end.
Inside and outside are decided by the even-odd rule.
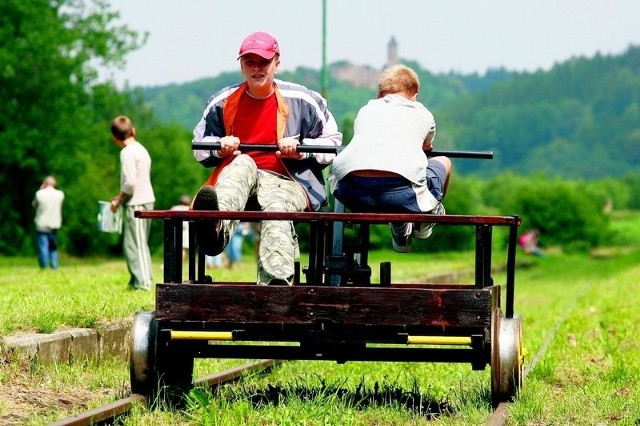
POLYGON ((438 111, 451 146, 495 160, 461 170, 601 178, 640 171, 640 47, 514 74, 438 111))

